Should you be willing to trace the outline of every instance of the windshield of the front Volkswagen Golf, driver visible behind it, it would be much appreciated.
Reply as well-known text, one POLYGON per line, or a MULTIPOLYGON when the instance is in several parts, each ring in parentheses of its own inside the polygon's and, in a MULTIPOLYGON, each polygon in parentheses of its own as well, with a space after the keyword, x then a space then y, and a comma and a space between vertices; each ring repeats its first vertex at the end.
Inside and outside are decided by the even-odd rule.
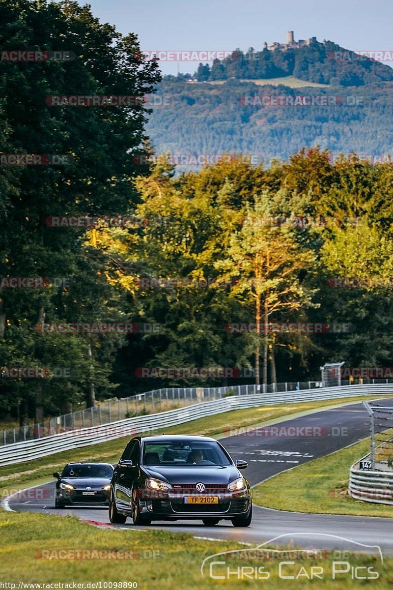
POLYGON ((220 445, 213 441, 145 442, 143 463, 156 466, 230 465, 220 445))

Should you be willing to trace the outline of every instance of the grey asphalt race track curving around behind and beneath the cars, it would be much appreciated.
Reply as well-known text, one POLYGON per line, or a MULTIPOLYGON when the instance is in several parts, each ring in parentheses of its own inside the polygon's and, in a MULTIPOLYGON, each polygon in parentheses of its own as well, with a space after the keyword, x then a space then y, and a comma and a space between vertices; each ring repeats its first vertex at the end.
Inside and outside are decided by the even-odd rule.
MULTIPOLYGON (((375 402, 393 406, 393 399, 385 398, 375 402)), ((252 486, 361 440, 369 434, 369 418, 362 404, 355 402, 289 419, 280 422, 276 430, 273 428, 266 427, 262 431, 250 427, 246 432, 240 431, 240 434, 220 439, 233 458, 249 461, 245 474, 252 486), (305 436, 310 433, 311 436, 305 436), (293 436, 289 437, 289 434, 293 436)), ((107 509, 104 508, 81 506, 55 509, 54 490, 55 483, 52 481, 31 489, 29 494, 11 496, 6 500, 5 506, 18 511, 73 514, 90 522, 110 524, 107 509)), ((127 519, 126 525, 110 526, 135 530, 129 523, 130 519, 127 519)), ((224 520, 214 527, 192 520, 154 522, 149 528, 151 527, 217 540, 232 539, 253 546, 280 535, 285 536, 276 541, 278 545, 287 545, 292 541, 304 549, 321 546, 327 549, 353 549, 352 541, 364 545, 379 545, 384 555, 393 555, 393 527, 392 520, 388 518, 305 514, 254 506, 252 525, 247 529, 235 528, 224 520), (340 540, 335 536, 345 539, 340 540)))

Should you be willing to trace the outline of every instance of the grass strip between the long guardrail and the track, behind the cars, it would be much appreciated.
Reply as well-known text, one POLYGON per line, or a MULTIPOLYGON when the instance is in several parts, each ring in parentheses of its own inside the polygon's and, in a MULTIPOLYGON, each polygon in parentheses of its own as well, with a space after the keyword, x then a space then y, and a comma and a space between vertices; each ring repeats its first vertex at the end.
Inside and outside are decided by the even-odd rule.
MULTIPOLYGON (((375 399, 374 396, 361 396, 359 398, 324 399, 322 401, 309 401, 295 404, 280 404, 260 406, 257 408, 239 409, 223 414, 216 414, 206 418, 199 418, 179 426, 165 429, 165 434, 203 434, 219 438, 231 428, 247 427, 250 425, 268 425, 271 421, 295 417, 294 415, 307 414, 315 409, 323 409, 332 405, 360 402, 363 399, 375 399)), ((156 432, 161 433, 162 430, 156 432)), ((153 432, 152 432, 153 434, 153 432)), ((9 489, 11 486, 34 485, 32 481, 43 483, 54 471, 61 471, 64 465, 70 461, 105 461, 116 463, 130 437, 116 438, 113 441, 101 442, 91 447, 63 451, 0 468, 0 489, 9 489), (42 480, 45 478, 45 480, 42 480), (42 481, 41 481, 42 480, 42 481)), ((2 497, 4 497, 3 493, 2 497)))

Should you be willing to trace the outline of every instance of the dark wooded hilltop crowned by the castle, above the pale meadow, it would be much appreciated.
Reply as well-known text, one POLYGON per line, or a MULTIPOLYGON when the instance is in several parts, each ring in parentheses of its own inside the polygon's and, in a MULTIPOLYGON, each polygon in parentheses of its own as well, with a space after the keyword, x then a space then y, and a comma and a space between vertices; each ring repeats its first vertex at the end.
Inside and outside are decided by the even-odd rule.
MULTIPOLYGON (((387 56, 385 61, 390 60, 387 56)), ((250 48, 243 53, 237 49, 223 60, 214 60, 212 67, 209 64, 199 64, 194 76, 202 82, 230 78, 256 80, 293 75, 301 80, 319 84, 363 86, 382 80, 393 80, 393 69, 381 61, 346 50, 332 41, 311 41, 309 45, 285 51, 254 51, 250 48)))

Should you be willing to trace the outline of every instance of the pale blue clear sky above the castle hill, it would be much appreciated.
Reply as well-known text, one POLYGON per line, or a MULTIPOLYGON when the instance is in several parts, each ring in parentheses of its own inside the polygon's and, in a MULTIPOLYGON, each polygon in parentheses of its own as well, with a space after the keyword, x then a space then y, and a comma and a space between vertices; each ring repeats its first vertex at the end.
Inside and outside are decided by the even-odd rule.
MULTIPOLYGON (((82 0, 79 0, 84 4, 82 0)), ((138 35, 143 51, 259 50, 266 40, 315 36, 352 50, 393 51, 389 0, 89 0, 93 14, 118 31, 138 35)), ((197 63, 180 63, 194 72, 197 63)), ((389 63, 393 65, 393 63, 389 63)), ((176 74, 176 62, 161 62, 164 74, 176 74)))

